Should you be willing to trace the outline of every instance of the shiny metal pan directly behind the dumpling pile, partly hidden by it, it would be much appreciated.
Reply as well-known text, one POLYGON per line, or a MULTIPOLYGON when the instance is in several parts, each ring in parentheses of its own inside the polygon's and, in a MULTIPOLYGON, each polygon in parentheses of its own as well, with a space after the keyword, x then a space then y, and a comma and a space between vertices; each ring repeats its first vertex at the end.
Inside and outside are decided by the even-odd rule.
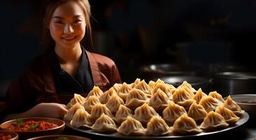
MULTIPOLYGON (((168 83, 175 87, 178 87, 184 82, 184 80, 187 80, 187 83, 189 83, 192 87, 194 87, 195 90, 198 90, 199 88, 201 88, 203 92, 209 92, 208 91, 209 80, 206 78, 197 77, 197 76, 168 76, 168 77, 161 77, 160 79, 163 80, 165 83, 168 83)), ((152 79, 152 80, 156 81, 157 79, 152 79)))

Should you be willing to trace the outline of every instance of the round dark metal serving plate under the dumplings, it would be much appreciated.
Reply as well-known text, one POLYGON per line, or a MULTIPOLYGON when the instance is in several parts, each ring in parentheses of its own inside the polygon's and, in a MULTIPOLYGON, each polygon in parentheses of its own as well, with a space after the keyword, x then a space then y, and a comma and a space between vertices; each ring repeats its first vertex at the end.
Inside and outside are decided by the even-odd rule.
POLYGON ((199 137, 206 137, 206 136, 210 136, 213 134, 221 134, 223 132, 229 132, 231 130, 236 130, 238 127, 241 127, 243 124, 245 124, 247 121, 249 120, 249 115, 247 112, 244 113, 244 115, 238 120, 238 122, 236 123, 236 125, 232 125, 231 127, 227 127, 224 130, 218 130, 215 132, 201 132, 200 134, 194 134, 194 135, 180 135, 180 136, 126 136, 123 134, 119 134, 119 133, 113 133, 113 134, 103 134, 100 132, 95 132, 94 130, 86 130, 83 129, 82 127, 76 128, 73 127, 72 125, 70 125, 70 123, 68 121, 66 121, 66 125, 67 127, 71 128, 72 130, 76 130, 78 132, 83 132, 85 134, 90 134, 93 137, 102 137, 105 139, 191 139, 191 138, 199 138, 199 137))

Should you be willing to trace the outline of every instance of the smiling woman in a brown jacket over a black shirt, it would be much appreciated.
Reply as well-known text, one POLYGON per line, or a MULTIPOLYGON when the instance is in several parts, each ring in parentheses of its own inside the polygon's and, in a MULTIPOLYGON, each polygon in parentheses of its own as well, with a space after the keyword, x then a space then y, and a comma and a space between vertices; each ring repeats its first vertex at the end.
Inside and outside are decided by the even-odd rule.
POLYGON ((91 35, 88 0, 50 0, 45 6, 46 52, 8 88, 6 106, 11 114, 6 120, 62 118, 74 93, 88 93, 94 85, 108 90, 121 83, 112 59, 88 52, 81 45, 84 36, 91 35))

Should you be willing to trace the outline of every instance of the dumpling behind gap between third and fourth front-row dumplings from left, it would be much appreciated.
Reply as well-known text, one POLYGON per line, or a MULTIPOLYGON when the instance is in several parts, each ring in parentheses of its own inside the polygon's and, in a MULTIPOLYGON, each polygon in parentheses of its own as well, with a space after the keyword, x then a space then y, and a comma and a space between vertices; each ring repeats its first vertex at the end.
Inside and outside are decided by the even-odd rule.
POLYGON ((143 104, 134 111, 134 118, 142 124, 147 124, 153 116, 158 116, 158 113, 148 104, 143 104))

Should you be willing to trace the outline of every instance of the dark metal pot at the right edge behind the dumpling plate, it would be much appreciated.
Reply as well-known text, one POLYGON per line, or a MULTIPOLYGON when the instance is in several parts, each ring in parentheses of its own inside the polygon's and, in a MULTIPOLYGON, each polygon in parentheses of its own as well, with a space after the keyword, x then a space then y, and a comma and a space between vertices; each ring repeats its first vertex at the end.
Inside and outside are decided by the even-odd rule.
POLYGON ((256 93, 256 73, 220 72, 215 74, 210 83, 212 90, 224 96, 256 93))

